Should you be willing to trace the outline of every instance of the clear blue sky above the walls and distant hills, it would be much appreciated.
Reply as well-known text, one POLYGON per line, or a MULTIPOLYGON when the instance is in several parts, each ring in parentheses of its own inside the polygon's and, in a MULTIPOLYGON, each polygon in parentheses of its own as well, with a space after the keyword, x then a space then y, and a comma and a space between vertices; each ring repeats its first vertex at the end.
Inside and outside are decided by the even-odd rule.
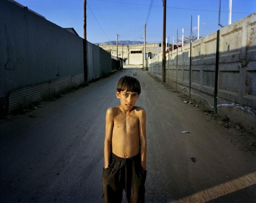
MULTIPOLYGON (((83 0, 16 0, 63 28, 74 28, 83 37, 83 0)), ((190 36, 191 15, 193 35, 197 36, 200 15, 200 37, 221 27, 218 25, 219 0, 167 0, 166 37, 172 42, 190 36)), ((221 21, 228 25, 229 0, 221 1, 221 21)), ((256 12, 255 0, 232 0, 232 23, 256 12)), ((162 0, 87 0, 87 40, 91 43, 120 40, 161 42, 163 38, 162 0), (151 6, 150 6, 151 5, 151 6)))

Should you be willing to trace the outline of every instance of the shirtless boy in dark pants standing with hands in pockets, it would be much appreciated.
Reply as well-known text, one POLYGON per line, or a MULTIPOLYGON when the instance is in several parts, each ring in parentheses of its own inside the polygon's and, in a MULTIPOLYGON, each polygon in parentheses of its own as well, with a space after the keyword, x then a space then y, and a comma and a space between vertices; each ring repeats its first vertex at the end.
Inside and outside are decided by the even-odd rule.
POLYGON ((122 77, 116 86, 120 105, 109 108, 106 113, 104 203, 122 202, 123 190, 128 203, 145 202, 146 112, 135 106, 140 93, 140 82, 136 78, 122 77))

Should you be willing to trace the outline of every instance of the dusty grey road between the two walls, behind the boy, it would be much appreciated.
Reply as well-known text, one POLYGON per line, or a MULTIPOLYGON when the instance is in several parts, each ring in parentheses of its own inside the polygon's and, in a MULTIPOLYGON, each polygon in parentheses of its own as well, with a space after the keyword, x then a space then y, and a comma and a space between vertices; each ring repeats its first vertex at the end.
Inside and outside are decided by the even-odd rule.
POLYGON ((256 202, 255 136, 136 68, 2 121, 1 202, 101 202, 105 113, 124 75, 147 114, 146 202, 256 202))

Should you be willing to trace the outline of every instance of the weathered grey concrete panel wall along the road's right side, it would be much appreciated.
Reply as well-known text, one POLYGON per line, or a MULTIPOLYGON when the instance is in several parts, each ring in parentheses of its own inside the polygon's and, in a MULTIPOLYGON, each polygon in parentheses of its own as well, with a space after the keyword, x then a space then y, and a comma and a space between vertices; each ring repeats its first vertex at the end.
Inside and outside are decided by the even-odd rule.
MULTIPOLYGON (((217 113, 222 117, 232 117, 233 123, 256 134, 255 30, 256 13, 220 30, 216 90, 217 113)), ((188 63, 190 44, 168 53, 166 62, 165 82, 174 89, 177 87, 177 91, 191 95, 211 110, 214 105, 216 49, 217 32, 191 44, 191 89, 188 63)), ((149 67, 156 70, 154 76, 160 78, 161 72, 157 71, 157 67, 161 67, 161 61, 155 63, 155 58, 149 60, 149 67)))

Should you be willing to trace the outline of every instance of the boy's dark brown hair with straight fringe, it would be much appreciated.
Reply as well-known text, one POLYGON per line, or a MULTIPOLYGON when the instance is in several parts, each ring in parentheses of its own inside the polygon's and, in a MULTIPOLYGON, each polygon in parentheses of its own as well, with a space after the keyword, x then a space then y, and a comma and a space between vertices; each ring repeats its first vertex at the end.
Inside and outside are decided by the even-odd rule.
POLYGON ((138 94, 141 93, 141 84, 139 80, 131 76, 121 77, 116 85, 116 90, 118 92, 128 91, 128 92, 136 92, 138 94))

